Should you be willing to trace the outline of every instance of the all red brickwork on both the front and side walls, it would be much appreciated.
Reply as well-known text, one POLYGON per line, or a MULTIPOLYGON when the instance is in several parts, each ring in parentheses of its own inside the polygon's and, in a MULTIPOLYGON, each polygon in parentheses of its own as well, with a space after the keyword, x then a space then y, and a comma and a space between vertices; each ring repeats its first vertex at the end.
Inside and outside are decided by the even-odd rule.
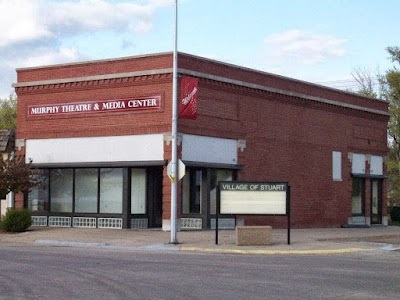
MULTIPOLYGON (((125 73, 172 67, 171 54, 138 59, 24 69, 19 82, 125 73)), ((387 104, 280 76, 252 72, 182 54, 179 67, 387 111, 387 104)), ((108 136, 171 131, 172 77, 149 75, 115 80, 18 88, 18 139, 108 136), (115 112, 27 117, 27 106, 161 94, 160 112, 115 112)), ((340 226, 351 217, 348 153, 387 155, 387 116, 216 82, 199 80, 199 117, 180 120, 178 131, 244 139, 238 180, 288 181, 292 226, 340 226), (332 151, 342 152, 343 181, 332 180, 332 151)), ((239 150, 240 151, 240 150, 239 150)), ((171 158, 165 146, 165 159, 171 158)), ((384 184, 384 186, 386 186, 384 184)), ((170 181, 164 170, 163 219, 170 217, 170 181)), ((384 196, 386 192, 384 192, 384 196)), ((384 198, 384 203, 386 200, 384 198)), ((179 206, 179 205, 178 205, 179 206)), ((180 207, 180 206, 179 206, 180 207)), ((246 217, 248 224, 286 226, 286 218, 246 217)))

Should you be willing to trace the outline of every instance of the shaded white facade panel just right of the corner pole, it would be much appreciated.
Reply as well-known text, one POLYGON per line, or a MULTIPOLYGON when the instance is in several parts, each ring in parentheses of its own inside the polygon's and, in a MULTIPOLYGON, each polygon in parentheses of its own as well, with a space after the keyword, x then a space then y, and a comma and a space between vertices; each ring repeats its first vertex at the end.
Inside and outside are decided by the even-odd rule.
POLYGON ((184 134, 182 160, 236 165, 237 140, 184 134))

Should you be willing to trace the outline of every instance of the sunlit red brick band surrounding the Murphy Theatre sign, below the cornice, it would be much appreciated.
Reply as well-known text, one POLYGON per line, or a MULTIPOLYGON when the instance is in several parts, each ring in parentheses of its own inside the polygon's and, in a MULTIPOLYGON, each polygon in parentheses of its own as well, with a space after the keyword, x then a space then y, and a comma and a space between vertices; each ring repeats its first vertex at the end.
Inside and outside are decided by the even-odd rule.
POLYGON ((168 77, 125 83, 94 83, 90 88, 54 88, 46 92, 18 92, 17 138, 82 137, 160 133, 170 131, 172 94, 168 77), (160 111, 101 112, 57 116, 27 116, 28 105, 162 96, 160 111))

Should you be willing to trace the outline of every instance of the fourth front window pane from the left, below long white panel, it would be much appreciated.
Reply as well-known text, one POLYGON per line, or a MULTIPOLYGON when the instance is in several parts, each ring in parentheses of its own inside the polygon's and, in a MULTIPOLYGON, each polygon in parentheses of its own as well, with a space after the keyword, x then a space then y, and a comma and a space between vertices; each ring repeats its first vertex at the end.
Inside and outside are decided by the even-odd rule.
POLYGON ((100 213, 122 213, 122 168, 100 169, 100 213))

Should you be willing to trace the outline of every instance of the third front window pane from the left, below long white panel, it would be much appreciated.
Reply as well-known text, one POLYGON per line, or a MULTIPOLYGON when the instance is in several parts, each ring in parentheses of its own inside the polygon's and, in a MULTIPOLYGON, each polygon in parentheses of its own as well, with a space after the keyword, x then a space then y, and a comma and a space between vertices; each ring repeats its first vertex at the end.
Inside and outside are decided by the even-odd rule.
POLYGON ((75 212, 97 213, 98 169, 75 170, 75 212))

